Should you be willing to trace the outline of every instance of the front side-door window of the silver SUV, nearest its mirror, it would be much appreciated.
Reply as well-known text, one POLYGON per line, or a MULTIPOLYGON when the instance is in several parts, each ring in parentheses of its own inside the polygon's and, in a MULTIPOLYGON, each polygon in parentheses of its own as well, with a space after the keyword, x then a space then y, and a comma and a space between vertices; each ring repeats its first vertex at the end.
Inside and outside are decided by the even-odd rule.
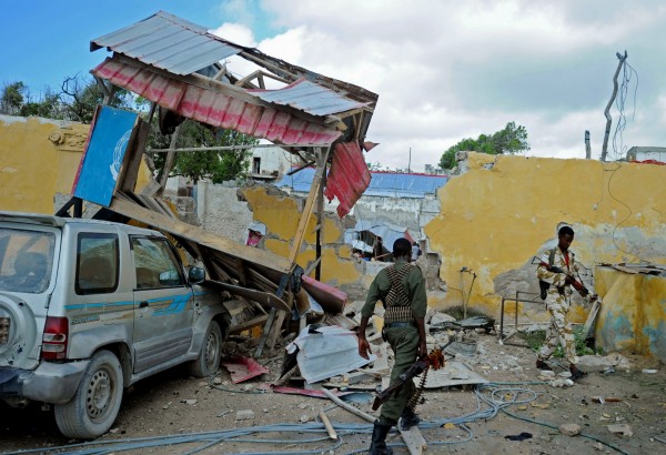
POLYGON ((185 279, 180 262, 165 239, 132 236, 137 289, 182 286, 185 279))

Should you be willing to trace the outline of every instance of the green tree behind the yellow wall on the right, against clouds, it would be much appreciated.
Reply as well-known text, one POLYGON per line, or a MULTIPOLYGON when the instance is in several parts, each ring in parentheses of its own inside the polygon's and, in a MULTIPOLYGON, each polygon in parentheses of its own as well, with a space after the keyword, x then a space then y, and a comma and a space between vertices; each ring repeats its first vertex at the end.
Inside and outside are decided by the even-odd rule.
POLYGON ((487 154, 514 154, 529 150, 527 130, 515 122, 506 123, 503 130, 492 135, 480 134, 477 139, 466 138, 448 148, 440 160, 440 168, 453 169, 456 165, 455 154, 461 151, 472 151, 487 154))

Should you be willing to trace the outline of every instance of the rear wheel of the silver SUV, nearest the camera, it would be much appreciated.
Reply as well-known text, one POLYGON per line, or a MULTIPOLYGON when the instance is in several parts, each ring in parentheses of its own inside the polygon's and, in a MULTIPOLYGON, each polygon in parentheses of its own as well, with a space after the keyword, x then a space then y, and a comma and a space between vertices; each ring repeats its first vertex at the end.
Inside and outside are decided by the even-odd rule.
POLYGON ((99 351, 81 377, 74 397, 57 404, 56 423, 60 432, 77 439, 93 439, 107 433, 120 410, 123 377, 118 357, 99 351))

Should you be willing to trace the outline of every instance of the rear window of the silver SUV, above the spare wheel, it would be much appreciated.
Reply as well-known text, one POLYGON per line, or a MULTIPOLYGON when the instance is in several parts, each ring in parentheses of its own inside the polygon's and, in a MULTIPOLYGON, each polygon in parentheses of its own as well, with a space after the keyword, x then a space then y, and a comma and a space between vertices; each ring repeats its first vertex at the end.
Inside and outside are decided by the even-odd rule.
POLYGON ((49 287, 56 235, 0 228, 0 291, 41 293, 49 287))

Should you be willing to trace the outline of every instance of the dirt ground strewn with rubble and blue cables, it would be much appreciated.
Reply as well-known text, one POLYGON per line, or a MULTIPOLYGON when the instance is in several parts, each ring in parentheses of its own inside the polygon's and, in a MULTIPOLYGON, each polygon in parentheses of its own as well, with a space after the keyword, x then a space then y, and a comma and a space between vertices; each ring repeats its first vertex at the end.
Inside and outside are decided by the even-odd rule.
MULTIPOLYGON (((591 372, 573 386, 554 387, 539 378, 529 348, 500 344, 494 333, 472 332, 470 338, 478 350, 465 363, 493 384, 476 392, 471 386, 424 392, 417 412, 423 418, 420 431, 428 443, 426 453, 666 453, 666 367, 659 362, 625 356, 629 367, 591 372), (644 373, 646 368, 657 372, 644 373), (582 435, 561 434, 562 424, 579 425, 582 435), (613 424, 626 424, 633 434, 614 434, 608 429, 613 424)), ((369 422, 327 398, 264 392, 265 384, 280 374, 281 351, 261 361, 271 373, 241 384, 232 384, 224 368, 219 371, 219 380, 194 378, 184 368, 144 380, 125 392, 111 432, 92 445, 74 445, 81 442, 60 436, 52 410, 0 405, 0 452, 48 453, 63 446, 62 452, 129 454, 367 451, 369 422), (321 410, 336 429, 337 441, 327 438, 319 423, 321 410), (236 419, 239 411, 252 411, 253 417, 236 419)), ((370 398, 372 387, 379 384, 361 384, 365 391, 353 395, 354 405, 377 415, 370 398)), ((300 387, 302 383, 287 385, 300 387)), ((387 442, 395 454, 408 453, 397 433, 387 442)))

